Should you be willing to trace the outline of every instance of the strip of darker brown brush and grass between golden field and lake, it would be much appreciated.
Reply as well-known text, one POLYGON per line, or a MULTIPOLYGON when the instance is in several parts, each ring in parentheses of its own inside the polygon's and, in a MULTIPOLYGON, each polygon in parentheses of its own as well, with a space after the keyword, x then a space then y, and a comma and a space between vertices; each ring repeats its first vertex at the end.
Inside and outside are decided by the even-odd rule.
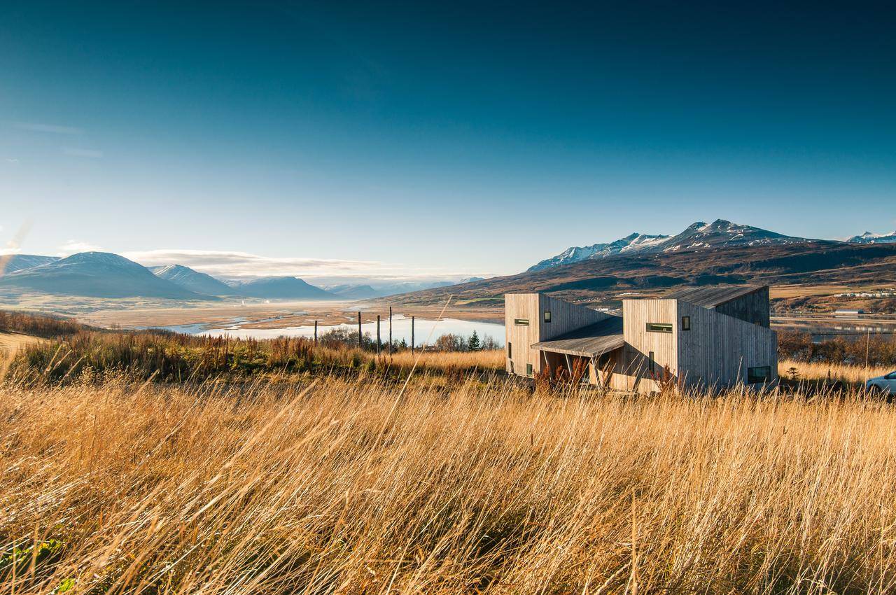
POLYGON ((315 344, 308 339, 286 337, 254 341, 156 331, 79 331, 59 341, 34 343, 20 349, 10 374, 45 382, 74 382, 110 373, 134 380, 200 382, 210 378, 360 371, 407 375, 415 362, 421 371, 457 375, 503 368, 504 356, 500 350, 421 353, 418 349, 412 353, 409 349, 395 349, 390 355, 383 349, 377 354, 375 349, 358 349, 332 337, 315 344))

